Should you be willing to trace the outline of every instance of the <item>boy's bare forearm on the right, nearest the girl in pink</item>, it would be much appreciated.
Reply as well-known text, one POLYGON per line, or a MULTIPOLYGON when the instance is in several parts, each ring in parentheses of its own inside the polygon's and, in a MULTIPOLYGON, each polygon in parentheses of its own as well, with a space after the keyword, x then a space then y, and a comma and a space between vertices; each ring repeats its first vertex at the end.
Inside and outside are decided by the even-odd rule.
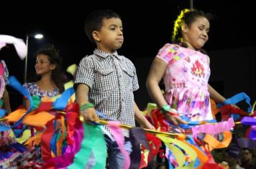
POLYGON ((135 102, 133 103, 133 107, 134 107, 135 119, 137 120, 137 122, 140 123, 140 127, 147 128, 150 130, 155 130, 155 127, 153 125, 151 125, 149 121, 147 121, 147 119, 144 115, 142 115, 139 107, 137 106, 137 104, 135 102))

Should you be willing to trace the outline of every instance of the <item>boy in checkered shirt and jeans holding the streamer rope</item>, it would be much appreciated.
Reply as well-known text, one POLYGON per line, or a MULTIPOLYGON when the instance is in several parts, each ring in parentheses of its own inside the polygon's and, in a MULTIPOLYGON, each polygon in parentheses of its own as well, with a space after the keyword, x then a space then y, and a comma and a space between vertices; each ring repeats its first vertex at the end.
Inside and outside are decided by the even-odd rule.
MULTIPOLYGON (((94 11, 86 18, 85 30, 87 37, 96 44, 96 49, 92 55, 83 57, 75 77, 76 100, 84 119, 97 122, 96 110, 99 110, 106 120, 135 126, 135 112, 135 118, 142 127, 154 129, 134 102, 133 91, 139 88, 134 64, 116 52, 124 42, 120 16, 110 10, 94 11), (94 105, 88 100, 93 100, 94 105)), ((124 147, 130 154, 132 146, 128 130, 124 130, 124 136, 124 147)), ((106 135, 105 140, 109 167, 122 168, 124 159, 116 143, 106 135)))

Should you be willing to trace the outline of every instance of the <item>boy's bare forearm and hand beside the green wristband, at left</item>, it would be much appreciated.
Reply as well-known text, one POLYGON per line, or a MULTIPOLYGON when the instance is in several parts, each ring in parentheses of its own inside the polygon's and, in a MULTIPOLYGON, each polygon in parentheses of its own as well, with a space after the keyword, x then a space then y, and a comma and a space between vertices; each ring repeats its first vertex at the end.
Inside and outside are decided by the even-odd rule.
MULTIPOLYGON (((88 101, 88 92, 89 92, 89 87, 86 84, 78 84, 76 88, 76 102, 78 102, 78 105, 84 106, 88 101)), ((88 121, 93 121, 97 122, 99 117, 96 113, 96 110, 94 107, 86 107, 84 110, 80 110, 80 114, 83 115, 83 118, 86 122, 88 121)))

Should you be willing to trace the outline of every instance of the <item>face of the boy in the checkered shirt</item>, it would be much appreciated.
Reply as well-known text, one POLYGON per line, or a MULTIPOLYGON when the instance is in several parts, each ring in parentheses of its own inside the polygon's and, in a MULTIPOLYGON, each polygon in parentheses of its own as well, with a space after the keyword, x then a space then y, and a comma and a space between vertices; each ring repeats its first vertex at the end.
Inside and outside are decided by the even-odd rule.
POLYGON ((99 49, 109 53, 115 52, 124 42, 121 19, 104 19, 101 30, 93 32, 93 38, 99 49))

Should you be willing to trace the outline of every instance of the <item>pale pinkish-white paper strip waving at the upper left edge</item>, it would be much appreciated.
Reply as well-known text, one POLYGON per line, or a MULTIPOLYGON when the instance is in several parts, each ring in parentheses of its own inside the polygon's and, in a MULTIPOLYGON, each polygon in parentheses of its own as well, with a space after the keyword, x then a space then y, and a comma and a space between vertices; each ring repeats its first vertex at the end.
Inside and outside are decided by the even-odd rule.
POLYGON ((27 56, 27 46, 23 39, 12 37, 5 34, 0 34, 0 50, 6 44, 13 44, 20 59, 24 59, 27 56))

